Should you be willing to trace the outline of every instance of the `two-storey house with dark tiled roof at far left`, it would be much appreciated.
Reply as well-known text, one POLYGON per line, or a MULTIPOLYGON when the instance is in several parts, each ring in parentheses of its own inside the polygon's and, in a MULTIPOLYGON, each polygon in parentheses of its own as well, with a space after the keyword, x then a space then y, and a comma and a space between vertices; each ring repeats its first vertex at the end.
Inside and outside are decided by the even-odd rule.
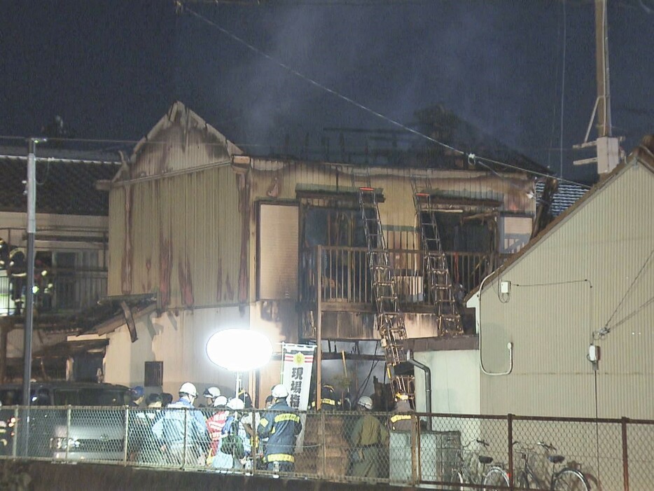
MULTIPOLYGON (((106 343, 66 338, 90 327, 88 316, 76 314, 106 296, 109 200, 95 182, 111 179, 119 167, 118 153, 36 147, 35 378, 88 378, 81 365, 102 361, 106 343), (71 364, 75 359, 84 364, 71 364)), ((22 378, 27 145, 0 147, 0 169, 0 380, 11 380, 22 378)))

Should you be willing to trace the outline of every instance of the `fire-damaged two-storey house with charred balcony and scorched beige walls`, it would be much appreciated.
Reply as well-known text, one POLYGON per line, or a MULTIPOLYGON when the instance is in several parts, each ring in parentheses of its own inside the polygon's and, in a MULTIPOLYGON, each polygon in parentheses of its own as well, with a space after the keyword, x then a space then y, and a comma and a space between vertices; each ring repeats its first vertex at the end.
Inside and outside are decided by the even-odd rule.
MULTIPOLYGON (((462 309, 457 300, 529 240, 534 179, 473 161, 366 167, 244 155, 180 102, 111 183, 109 298, 155 293, 159 311, 134 318, 136 336, 124 326, 106 332, 106 381, 172 393, 186 380, 234 387, 234 374, 205 352, 209 337, 230 327, 274 343, 316 342, 318 326, 323 341, 380 339, 361 188, 378 202, 383 242, 375 243, 387 248, 408 348, 435 366, 449 360, 449 378, 439 374, 436 384, 464 396, 466 378, 478 380, 473 319, 461 310, 461 325, 443 324, 424 257, 438 230, 462 309)), ((279 361, 271 363, 251 378, 252 392, 279 381, 279 361)), ((478 408, 473 396, 457 410, 478 408)))

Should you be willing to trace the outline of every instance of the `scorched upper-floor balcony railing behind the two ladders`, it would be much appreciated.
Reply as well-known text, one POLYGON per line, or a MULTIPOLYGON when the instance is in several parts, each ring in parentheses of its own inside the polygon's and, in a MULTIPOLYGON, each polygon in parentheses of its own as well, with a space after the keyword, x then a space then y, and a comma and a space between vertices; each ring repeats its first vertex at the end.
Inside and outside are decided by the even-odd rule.
MULTIPOLYGON (((316 300, 318 263, 321 266, 323 302, 372 303, 368 249, 363 247, 316 247, 305 249, 300 258, 300 298, 316 300), (318 260, 319 259, 319 260, 318 260)), ((446 252, 454 293, 462 300, 498 265, 497 254, 446 252)), ((390 249, 391 274, 404 305, 431 305, 429 285, 424 281, 424 252, 390 249)))

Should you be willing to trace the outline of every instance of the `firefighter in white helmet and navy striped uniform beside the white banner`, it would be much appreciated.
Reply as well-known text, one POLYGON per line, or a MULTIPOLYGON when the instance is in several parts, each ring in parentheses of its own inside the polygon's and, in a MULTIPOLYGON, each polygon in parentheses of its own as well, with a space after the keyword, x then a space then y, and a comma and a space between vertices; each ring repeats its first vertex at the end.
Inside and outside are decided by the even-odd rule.
POLYGON ((302 431, 300 416, 286 398, 288 389, 284 385, 272 387, 274 402, 266 411, 257 427, 259 438, 267 438, 263 462, 268 471, 293 472, 295 468, 295 439, 302 431))

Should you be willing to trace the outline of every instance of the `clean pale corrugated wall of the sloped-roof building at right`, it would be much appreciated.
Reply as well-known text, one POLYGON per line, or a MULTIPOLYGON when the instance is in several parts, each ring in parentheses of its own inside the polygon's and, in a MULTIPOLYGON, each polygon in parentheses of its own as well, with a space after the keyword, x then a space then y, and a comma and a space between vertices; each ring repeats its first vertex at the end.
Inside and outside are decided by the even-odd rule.
POLYGON ((654 251, 652 209, 654 175, 628 167, 484 291, 485 368, 506 371, 509 341, 515 366, 482 375, 482 413, 654 418, 654 257, 642 269, 654 251), (596 394, 586 354, 607 323, 596 394))

